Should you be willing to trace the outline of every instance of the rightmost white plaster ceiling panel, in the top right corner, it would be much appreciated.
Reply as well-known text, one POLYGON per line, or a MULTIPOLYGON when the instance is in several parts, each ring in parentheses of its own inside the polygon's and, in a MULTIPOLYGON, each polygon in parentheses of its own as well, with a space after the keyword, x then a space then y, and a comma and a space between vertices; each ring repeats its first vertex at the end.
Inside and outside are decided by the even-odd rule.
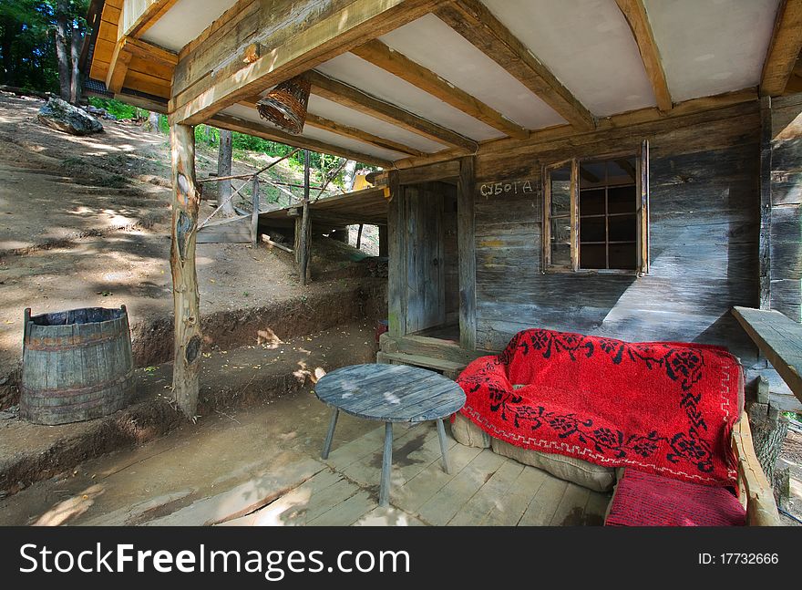
POLYGON ((645 0, 674 102, 757 86, 779 0, 645 0))

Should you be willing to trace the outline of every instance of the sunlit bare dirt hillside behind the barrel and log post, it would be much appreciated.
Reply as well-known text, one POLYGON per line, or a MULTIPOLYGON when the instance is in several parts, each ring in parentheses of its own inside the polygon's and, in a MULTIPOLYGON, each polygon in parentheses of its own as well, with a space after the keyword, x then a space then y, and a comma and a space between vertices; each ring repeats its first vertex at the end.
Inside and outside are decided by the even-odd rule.
MULTIPOLYGON (((38 314, 125 304, 139 364, 170 357, 169 139, 108 120, 103 133, 70 136, 36 121, 42 104, 0 93, 0 408, 13 400, 26 307, 38 314)), ((217 169, 216 151, 205 146, 196 160, 199 179, 217 169)), ((234 173, 268 161, 255 154, 250 160, 235 160, 234 173)), ((282 174, 293 171, 283 167, 282 174)), ((201 219, 214 203, 202 202, 201 219)), ((312 263, 313 273, 343 265, 321 256, 312 263)), ((353 296, 362 289, 358 272, 303 287, 292 254, 264 246, 199 244, 197 264, 202 314, 217 317, 207 326, 210 344, 216 327, 231 336, 232 321, 251 310, 286 301, 303 307, 333 291, 353 296)), ((306 307, 295 317, 309 316, 306 307)), ((303 333, 292 317, 272 326, 279 336, 303 333)), ((223 338, 223 346, 251 344, 257 332, 239 343, 223 338)))

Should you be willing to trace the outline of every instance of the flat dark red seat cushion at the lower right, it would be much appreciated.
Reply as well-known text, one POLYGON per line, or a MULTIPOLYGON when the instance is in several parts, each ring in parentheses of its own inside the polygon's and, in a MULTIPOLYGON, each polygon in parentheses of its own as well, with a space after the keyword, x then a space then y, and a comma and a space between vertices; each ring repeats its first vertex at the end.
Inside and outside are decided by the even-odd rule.
POLYGON ((623 470, 609 526, 743 526, 746 511, 728 488, 623 470))

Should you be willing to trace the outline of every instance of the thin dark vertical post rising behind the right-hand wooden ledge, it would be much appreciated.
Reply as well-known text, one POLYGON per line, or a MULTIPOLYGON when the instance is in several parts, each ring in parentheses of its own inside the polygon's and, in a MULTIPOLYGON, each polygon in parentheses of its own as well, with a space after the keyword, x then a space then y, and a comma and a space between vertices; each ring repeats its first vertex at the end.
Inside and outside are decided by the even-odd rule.
POLYGON ((760 99, 760 234, 758 307, 771 309, 771 97, 760 99))

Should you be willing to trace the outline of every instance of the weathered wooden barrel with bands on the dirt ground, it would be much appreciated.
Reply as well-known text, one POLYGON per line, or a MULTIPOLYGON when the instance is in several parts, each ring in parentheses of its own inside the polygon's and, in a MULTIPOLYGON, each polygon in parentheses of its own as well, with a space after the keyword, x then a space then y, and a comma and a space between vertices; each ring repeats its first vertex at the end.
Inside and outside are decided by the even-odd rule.
POLYGON ((87 307, 25 311, 19 412, 35 424, 65 424, 125 408, 134 392, 129 316, 87 307))

